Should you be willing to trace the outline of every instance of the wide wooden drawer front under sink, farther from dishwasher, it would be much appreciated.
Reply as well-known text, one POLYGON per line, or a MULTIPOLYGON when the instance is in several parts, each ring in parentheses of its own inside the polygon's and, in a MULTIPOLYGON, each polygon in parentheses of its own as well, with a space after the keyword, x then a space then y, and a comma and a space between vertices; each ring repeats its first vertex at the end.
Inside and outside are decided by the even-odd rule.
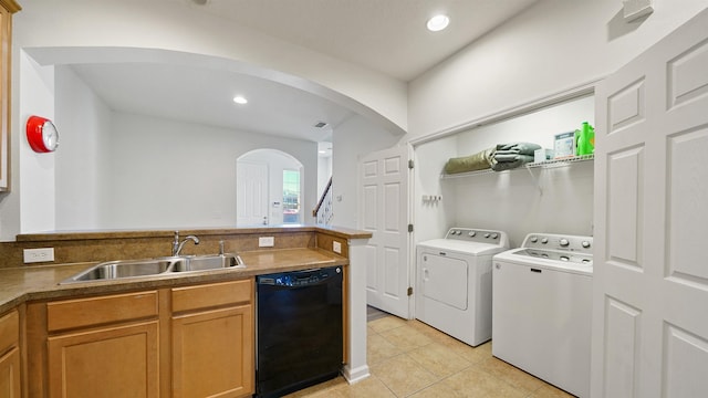
POLYGON ((157 291, 46 304, 49 332, 157 316, 157 291))

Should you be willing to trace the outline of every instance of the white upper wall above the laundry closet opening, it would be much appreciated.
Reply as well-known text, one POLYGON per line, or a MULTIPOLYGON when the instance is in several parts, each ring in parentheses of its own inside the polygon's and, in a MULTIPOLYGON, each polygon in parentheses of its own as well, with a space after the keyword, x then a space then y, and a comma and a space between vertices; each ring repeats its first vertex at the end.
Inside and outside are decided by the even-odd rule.
POLYGON ((708 6, 653 3, 627 24, 621 0, 540 1, 409 84, 408 139, 606 76, 708 6))

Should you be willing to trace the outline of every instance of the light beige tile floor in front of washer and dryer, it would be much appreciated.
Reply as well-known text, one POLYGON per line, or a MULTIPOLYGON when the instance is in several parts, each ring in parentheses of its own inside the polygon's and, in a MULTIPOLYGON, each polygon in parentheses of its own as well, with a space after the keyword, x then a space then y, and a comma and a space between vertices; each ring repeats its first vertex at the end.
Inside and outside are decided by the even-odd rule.
POLYGON ((492 357, 491 342, 470 347, 419 321, 369 320, 371 377, 348 385, 340 376, 288 397, 572 397, 492 357))

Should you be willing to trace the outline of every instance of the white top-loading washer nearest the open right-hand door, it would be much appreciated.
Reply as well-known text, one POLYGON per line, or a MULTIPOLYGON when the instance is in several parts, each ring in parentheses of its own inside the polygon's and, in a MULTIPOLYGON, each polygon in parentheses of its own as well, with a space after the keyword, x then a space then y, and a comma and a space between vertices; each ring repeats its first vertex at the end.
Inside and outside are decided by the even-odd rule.
POLYGON ((531 233, 493 259, 492 355, 590 396, 592 237, 531 233))

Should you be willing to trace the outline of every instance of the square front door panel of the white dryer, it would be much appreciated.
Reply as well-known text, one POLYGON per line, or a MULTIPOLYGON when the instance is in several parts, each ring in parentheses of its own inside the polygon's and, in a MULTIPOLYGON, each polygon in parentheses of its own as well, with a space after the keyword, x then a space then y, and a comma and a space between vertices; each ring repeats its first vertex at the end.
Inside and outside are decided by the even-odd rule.
POLYGON ((419 259, 418 281, 423 300, 433 300, 458 310, 467 310, 469 264, 455 254, 424 250, 419 259))

